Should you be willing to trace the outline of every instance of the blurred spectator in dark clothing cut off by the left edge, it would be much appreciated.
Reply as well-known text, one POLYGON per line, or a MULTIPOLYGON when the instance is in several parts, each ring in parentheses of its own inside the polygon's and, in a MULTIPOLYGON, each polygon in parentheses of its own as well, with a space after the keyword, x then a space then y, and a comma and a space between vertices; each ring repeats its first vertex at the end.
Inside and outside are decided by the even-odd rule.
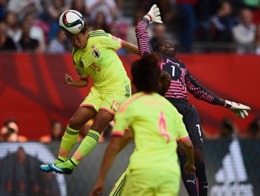
POLYGON ((0 22, 0 51, 16 51, 16 46, 11 37, 7 35, 6 22, 0 22))

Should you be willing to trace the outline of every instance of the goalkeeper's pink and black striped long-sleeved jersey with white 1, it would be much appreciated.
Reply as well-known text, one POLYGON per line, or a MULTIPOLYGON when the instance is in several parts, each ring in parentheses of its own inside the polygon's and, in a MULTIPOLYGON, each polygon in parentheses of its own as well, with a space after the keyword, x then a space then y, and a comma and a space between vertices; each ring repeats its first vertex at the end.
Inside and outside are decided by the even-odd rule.
MULTIPOLYGON (((152 53, 147 27, 148 20, 146 19, 141 20, 136 27, 136 38, 141 56, 152 53)), ((159 55, 162 59, 160 68, 171 75, 171 86, 164 96, 169 99, 169 101, 188 102, 188 90, 196 99, 202 99, 211 104, 217 104, 219 102, 219 97, 216 97, 212 92, 209 92, 209 90, 197 83, 197 80, 191 76, 183 62, 161 53, 159 53, 159 55)))

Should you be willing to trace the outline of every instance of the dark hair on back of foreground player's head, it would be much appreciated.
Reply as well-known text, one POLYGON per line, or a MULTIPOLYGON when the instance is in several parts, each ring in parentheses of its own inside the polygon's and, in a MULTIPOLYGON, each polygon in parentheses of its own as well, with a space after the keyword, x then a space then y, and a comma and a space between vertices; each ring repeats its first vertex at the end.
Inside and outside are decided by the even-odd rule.
POLYGON ((135 61, 131 68, 133 83, 138 91, 156 92, 159 83, 160 57, 150 54, 135 61))

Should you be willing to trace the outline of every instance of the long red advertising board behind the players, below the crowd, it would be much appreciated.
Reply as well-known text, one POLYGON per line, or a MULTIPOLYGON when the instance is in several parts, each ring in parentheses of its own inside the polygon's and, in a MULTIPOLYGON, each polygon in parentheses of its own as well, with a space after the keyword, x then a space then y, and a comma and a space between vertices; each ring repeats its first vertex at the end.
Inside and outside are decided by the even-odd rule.
MULTIPOLYGON (((136 55, 120 56, 131 78, 131 63, 136 55)), ((180 55, 194 78, 223 99, 252 108, 249 118, 241 120, 221 106, 213 106, 192 95, 204 130, 219 131, 221 120, 230 116, 243 132, 260 116, 260 56, 256 55, 180 55)), ((0 55, 0 123, 15 117, 20 134, 38 139, 48 134, 52 120, 65 125, 82 102, 89 87, 76 88, 63 83, 65 73, 77 78, 71 54, 1 54, 0 55)))

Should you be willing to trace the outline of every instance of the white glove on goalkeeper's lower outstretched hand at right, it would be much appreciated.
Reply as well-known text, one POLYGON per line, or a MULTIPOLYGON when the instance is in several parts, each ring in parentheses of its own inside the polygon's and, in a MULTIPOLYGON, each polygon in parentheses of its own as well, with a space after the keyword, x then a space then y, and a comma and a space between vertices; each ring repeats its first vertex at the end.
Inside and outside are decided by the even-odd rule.
POLYGON ((247 111, 250 110, 249 106, 245 106, 243 104, 238 104, 235 102, 230 102, 226 100, 225 107, 230 109, 230 111, 233 111, 238 118, 244 119, 245 117, 248 116, 247 111))

